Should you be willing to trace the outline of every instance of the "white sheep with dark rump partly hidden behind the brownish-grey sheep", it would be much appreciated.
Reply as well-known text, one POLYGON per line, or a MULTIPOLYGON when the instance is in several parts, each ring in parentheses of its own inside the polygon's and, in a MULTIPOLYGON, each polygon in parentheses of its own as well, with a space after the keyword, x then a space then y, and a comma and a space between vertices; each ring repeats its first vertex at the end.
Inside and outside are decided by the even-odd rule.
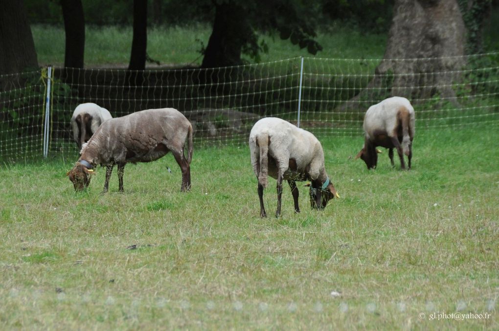
POLYGON ((78 148, 81 149, 81 146, 92 137, 99 126, 110 118, 112 116, 107 109, 94 103, 88 102, 78 105, 71 117, 73 138, 78 148))

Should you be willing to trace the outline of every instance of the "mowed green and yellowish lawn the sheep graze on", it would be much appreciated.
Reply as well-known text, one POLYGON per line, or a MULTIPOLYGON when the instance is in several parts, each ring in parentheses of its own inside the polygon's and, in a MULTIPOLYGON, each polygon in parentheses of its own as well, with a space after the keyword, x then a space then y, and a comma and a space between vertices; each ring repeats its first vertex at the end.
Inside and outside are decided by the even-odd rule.
POLYGON ((341 198, 311 210, 300 185, 294 214, 285 185, 278 219, 248 146, 195 149, 189 193, 171 155, 127 165, 123 194, 104 168, 76 194, 76 155, 2 165, 0 329, 497 330, 498 140, 417 130, 412 170, 368 171, 361 137, 321 137, 341 198))

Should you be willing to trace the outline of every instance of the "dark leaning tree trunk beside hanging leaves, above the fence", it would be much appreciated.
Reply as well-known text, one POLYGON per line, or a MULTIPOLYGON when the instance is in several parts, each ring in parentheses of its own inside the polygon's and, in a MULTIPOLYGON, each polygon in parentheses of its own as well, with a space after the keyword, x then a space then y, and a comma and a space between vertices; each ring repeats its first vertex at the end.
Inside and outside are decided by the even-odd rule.
POLYGON ((241 64, 241 50, 249 40, 251 27, 244 10, 233 2, 216 4, 213 31, 206 46, 202 68, 241 64))

